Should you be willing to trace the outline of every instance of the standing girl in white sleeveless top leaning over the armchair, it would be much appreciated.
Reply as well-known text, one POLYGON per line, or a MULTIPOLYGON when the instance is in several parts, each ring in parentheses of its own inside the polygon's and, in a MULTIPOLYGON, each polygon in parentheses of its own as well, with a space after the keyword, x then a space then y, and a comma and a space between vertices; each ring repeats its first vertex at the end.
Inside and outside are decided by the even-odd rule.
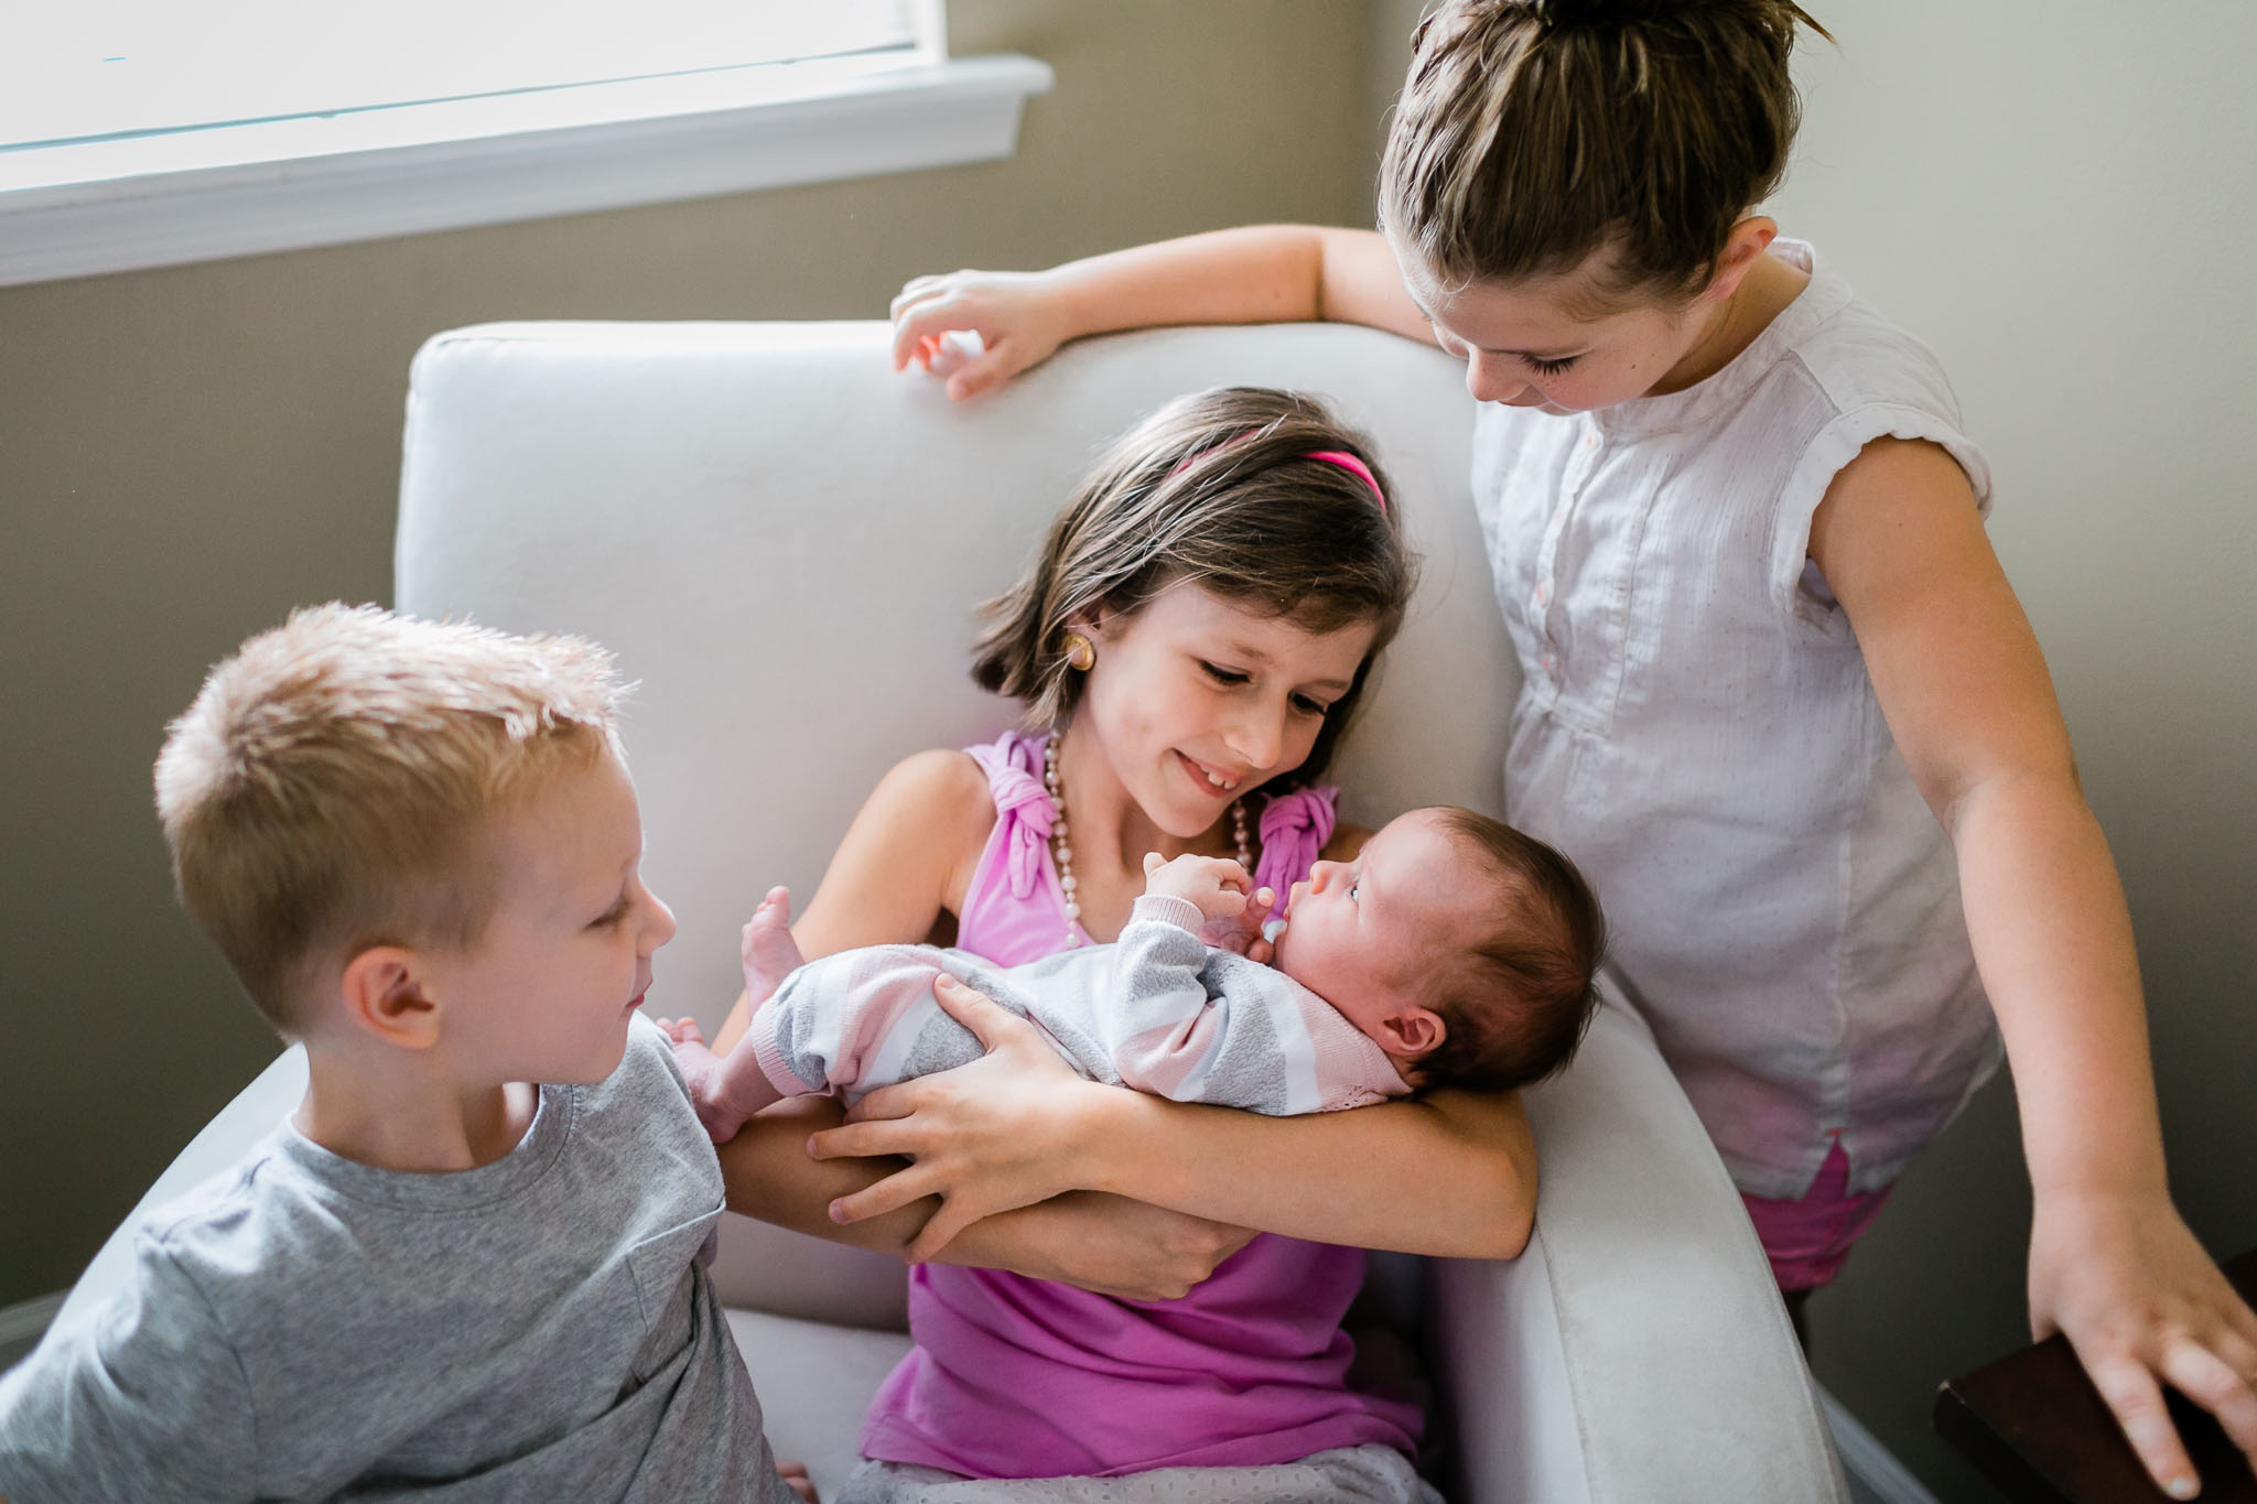
POLYGON ((2131 920, 1984 534, 1988 467, 1934 356, 1749 210, 1794 135, 1797 25, 1788 0, 1456 0, 1417 38, 1381 235, 921 277, 896 361, 950 354, 968 397, 1083 334, 1309 318, 1463 356, 1526 676, 1510 814, 1596 884, 1609 981, 1790 1303, 2004 1033, 2031 1326, 2192 1497, 2158 1378, 2257 1459, 2257 1317, 2169 1200, 2131 920))

